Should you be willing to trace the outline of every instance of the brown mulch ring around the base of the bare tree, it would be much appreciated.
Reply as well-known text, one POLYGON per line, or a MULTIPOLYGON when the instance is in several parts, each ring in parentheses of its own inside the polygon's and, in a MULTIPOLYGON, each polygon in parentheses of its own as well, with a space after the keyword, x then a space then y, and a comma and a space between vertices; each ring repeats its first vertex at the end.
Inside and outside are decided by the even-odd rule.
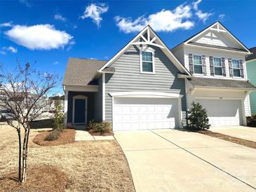
POLYGON ((27 181, 20 184, 17 172, 0 178, 0 191, 65 191, 70 181, 60 168, 49 165, 35 166, 27 170, 27 181))

